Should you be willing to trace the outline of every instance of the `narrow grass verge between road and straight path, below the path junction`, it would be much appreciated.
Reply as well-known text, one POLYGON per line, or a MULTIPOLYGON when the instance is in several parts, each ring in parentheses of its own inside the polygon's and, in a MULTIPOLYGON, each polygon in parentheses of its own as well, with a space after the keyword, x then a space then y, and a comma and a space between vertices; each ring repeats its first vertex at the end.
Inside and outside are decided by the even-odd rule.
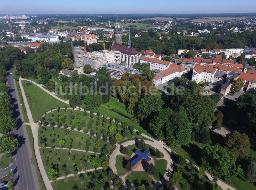
POLYGON ((30 147, 31 147, 31 150, 32 150, 32 157, 33 157, 34 163, 35 163, 38 182, 39 182, 41 190, 46 190, 46 187, 45 187, 44 181, 42 179, 40 170, 38 168, 37 160, 36 160, 35 149, 34 149, 34 137, 33 137, 30 125, 26 125, 26 129, 27 129, 27 133, 28 133, 29 144, 30 144, 30 147))

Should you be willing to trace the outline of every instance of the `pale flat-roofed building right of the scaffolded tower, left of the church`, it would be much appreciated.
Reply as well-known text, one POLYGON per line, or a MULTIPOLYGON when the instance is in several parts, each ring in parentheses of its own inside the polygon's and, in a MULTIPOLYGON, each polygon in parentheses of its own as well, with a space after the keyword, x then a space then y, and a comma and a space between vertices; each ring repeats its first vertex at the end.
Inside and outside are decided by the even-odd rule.
POLYGON ((99 52, 88 52, 82 56, 83 65, 90 64, 92 69, 99 69, 106 64, 106 58, 99 52))

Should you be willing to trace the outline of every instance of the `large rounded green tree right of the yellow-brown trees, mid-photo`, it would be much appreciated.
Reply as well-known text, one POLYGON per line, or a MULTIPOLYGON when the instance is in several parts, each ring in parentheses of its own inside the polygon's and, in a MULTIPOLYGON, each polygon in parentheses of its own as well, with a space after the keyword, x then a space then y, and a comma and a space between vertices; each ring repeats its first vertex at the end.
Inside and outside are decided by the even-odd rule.
POLYGON ((138 113, 137 116, 143 120, 150 116, 152 113, 155 113, 162 109, 164 102, 160 95, 145 95, 138 104, 138 113), (154 106, 152 106, 154 105, 154 106))

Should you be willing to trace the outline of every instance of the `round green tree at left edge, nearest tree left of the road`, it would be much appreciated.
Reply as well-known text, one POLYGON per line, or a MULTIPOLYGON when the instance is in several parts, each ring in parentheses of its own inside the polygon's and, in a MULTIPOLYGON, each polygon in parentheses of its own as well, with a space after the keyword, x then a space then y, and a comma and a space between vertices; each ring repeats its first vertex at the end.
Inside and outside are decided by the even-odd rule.
POLYGON ((0 137, 0 153, 5 153, 10 157, 11 152, 19 146, 17 138, 13 136, 3 135, 0 137))

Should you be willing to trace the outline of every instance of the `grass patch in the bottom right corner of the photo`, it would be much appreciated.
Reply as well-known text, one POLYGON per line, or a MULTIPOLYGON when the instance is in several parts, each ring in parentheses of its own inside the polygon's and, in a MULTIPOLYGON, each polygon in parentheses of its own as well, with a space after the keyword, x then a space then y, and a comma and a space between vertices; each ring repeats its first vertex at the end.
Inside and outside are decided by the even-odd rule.
POLYGON ((248 181, 245 181, 243 176, 230 178, 229 185, 233 186, 237 190, 256 190, 256 186, 248 181))

